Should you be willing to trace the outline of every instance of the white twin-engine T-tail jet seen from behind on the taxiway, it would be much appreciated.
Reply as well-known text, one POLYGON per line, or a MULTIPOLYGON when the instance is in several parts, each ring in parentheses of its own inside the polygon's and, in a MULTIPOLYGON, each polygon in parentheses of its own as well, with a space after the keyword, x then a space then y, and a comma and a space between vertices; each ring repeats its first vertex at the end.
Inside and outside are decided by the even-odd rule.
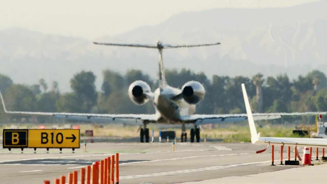
MULTIPOLYGON (((181 124, 181 142, 187 141, 187 133, 185 124, 193 124, 194 128, 190 131, 190 142, 200 141, 199 125, 209 123, 224 123, 246 121, 247 114, 195 114, 196 105, 200 103, 205 96, 203 85, 196 81, 185 83, 181 89, 169 86, 165 81, 162 51, 164 48, 180 48, 180 47, 198 47, 198 46, 213 46, 214 44, 201 45, 163 45, 157 41, 157 45, 140 45, 140 44, 113 44, 113 43, 96 43, 98 45, 107 46, 128 46, 128 47, 145 47, 157 48, 159 50, 159 87, 151 91, 150 86, 144 81, 135 81, 130 84, 128 89, 129 98, 136 105, 143 105, 148 101, 152 101, 155 109, 155 114, 88 114, 88 113, 56 113, 56 112, 22 112, 22 111, 7 111, 4 99, 0 92, 1 101, 4 111, 13 115, 30 115, 30 116, 52 116, 59 119, 73 119, 95 122, 112 122, 125 123, 131 125, 140 125, 140 142, 149 142, 149 129, 146 128, 148 123, 171 123, 181 124)), ((287 116, 297 115, 316 115, 319 112, 308 113, 255 113, 255 120, 276 119, 287 116)))

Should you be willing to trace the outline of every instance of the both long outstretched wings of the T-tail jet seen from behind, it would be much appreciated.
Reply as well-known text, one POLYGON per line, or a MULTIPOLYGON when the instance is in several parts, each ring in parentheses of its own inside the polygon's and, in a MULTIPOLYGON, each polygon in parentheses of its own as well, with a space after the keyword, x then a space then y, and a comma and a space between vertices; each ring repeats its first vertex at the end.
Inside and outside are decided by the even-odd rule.
MULTIPOLYGON (((112 122, 124 123, 131 125, 143 125, 145 122, 157 122, 158 116, 156 114, 90 114, 90 113, 57 113, 57 112, 24 112, 24 111, 7 111, 2 94, 0 97, 5 113, 12 115, 28 115, 28 116, 49 116, 58 119, 69 120, 84 120, 94 122, 112 122)), ((255 120, 270 120, 287 116, 298 115, 318 115, 326 114, 326 112, 308 112, 308 113, 255 113, 253 114, 255 120)), ((181 120, 185 123, 194 123, 195 125, 209 124, 209 123, 225 123, 246 121, 247 114, 223 114, 223 115, 207 115, 194 114, 181 116, 181 120)))

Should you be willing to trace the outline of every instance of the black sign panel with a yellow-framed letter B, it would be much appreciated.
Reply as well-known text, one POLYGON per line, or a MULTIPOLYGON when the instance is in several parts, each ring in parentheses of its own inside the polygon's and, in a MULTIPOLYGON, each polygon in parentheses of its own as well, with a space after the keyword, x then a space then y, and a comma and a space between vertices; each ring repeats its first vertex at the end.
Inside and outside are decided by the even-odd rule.
POLYGON ((3 148, 27 148, 27 129, 4 129, 3 148))

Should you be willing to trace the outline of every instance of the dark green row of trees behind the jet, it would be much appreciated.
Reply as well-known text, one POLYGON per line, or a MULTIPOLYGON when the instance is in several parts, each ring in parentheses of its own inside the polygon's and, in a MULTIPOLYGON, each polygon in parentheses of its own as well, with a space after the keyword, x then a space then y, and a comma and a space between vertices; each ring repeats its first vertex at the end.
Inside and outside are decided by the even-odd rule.
MULTIPOLYGON (((197 105, 199 114, 238 114, 245 113, 241 83, 245 83, 254 112, 307 112, 327 111, 327 78, 324 73, 313 70, 305 76, 290 80, 287 74, 268 76, 261 73, 252 78, 213 75, 211 79, 203 72, 189 69, 166 69, 166 81, 172 87, 181 88, 188 81, 203 84, 206 89, 204 100, 197 105)), ((112 70, 103 71, 100 91, 95 88, 96 76, 92 71, 76 73, 70 80, 72 92, 61 93, 59 84, 48 86, 43 79, 33 85, 13 83, 9 76, 0 74, 0 90, 7 110, 71 113, 109 114, 151 114, 151 103, 134 105, 128 97, 129 85, 142 80, 152 91, 158 87, 141 70, 128 70, 125 75, 112 70)), ((0 108, 0 122, 31 122, 28 116, 5 114, 0 108)), ((37 117, 38 122, 53 122, 52 118, 37 117)))

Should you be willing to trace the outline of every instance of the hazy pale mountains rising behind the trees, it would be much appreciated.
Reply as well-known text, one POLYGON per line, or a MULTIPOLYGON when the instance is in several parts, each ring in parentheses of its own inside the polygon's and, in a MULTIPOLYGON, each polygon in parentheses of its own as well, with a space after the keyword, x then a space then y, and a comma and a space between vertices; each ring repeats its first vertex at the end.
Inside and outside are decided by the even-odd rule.
MULTIPOLYGON (((327 1, 287 8, 211 9, 184 12, 156 26, 134 29, 97 42, 171 45, 221 42, 219 46, 166 49, 165 68, 190 68, 207 76, 265 76, 287 73, 291 78, 312 69, 327 73, 327 1)), ((160 15, 156 15, 160 16, 160 15)), ((115 25, 112 25, 115 26, 115 25)), ((110 30, 109 30, 110 31, 110 30)), ((0 31, 0 73, 15 83, 56 80, 69 91, 69 80, 81 70, 97 76, 102 70, 142 69, 157 79, 158 51, 145 48, 98 46, 82 38, 44 35, 21 28, 0 31)))

